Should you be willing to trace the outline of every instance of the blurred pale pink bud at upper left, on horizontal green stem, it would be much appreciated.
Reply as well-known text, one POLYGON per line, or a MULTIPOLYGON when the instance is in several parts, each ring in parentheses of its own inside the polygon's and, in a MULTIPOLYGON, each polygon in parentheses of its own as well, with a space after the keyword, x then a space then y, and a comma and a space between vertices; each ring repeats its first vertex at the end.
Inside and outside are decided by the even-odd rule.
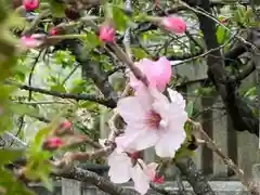
POLYGON ((31 35, 31 36, 23 36, 21 38, 21 41, 24 46, 26 46, 27 48, 38 48, 40 47, 41 44, 44 43, 44 37, 46 35, 42 35, 42 34, 35 34, 35 35, 31 35))

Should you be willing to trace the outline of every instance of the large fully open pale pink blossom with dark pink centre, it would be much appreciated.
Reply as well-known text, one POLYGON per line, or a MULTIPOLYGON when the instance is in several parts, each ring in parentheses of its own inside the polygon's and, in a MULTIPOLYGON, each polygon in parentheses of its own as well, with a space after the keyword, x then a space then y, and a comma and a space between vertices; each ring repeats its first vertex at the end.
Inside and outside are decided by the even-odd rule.
POLYGON ((185 140, 187 120, 185 100, 168 89, 171 102, 154 88, 142 87, 135 96, 119 100, 117 110, 127 122, 125 134, 116 143, 128 152, 155 146, 159 157, 174 157, 185 140))

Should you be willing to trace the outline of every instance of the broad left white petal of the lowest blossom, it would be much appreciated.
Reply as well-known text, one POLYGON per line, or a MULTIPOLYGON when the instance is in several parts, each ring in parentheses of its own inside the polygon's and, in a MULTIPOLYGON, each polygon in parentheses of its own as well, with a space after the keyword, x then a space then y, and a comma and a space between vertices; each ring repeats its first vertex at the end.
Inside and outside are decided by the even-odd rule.
POLYGON ((108 166, 110 167, 108 176, 114 183, 125 183, 131 178, 131 159, 126 153, 113 152, 108 156, 108 166))

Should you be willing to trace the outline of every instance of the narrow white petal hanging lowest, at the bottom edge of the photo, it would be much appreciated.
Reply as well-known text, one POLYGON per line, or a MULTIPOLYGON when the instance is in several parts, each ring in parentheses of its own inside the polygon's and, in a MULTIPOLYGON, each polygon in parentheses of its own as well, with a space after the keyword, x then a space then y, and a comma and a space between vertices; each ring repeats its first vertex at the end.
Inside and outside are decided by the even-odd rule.
POLYGON ((138 191, 140 194, 145 194, 148 188, 150 188, 150 178, 144 173, 142 168, 140 167, 139 164, 136 164, 132 169, 131 169, 131 176, 132 180, 134 182, 134 188, 138 191))

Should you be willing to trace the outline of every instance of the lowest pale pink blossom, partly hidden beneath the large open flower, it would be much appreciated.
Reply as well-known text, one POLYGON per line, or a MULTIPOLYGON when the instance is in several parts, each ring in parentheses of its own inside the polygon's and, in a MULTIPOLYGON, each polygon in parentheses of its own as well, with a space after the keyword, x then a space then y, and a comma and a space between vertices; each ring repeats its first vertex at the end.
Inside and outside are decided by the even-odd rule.
POLYGON ((125 183, 130 179, 134 182, 134 188, 140 194, 145 194, 150 188, 150 182, 156 181, 157 164, 146 165, 142 159, 133 159, 131 154, 114 151, 108 156, 108 176, 114 183, 125 183))

